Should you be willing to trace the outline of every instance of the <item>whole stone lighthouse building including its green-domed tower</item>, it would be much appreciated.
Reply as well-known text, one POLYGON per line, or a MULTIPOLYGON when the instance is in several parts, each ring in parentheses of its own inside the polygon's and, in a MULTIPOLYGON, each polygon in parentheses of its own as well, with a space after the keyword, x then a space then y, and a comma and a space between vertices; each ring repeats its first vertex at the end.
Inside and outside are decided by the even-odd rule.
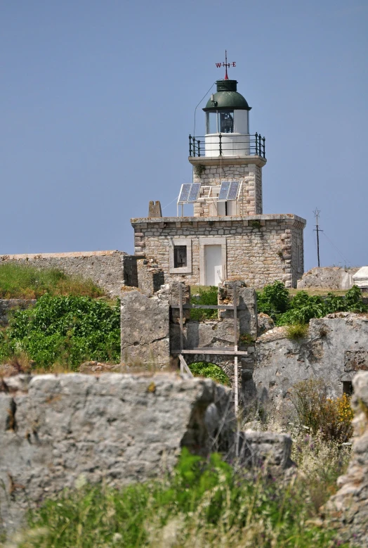
POLYGON ((191 184, 183 184, 178 216, 131 219, 135 254, 156 265, 164 281, 204 286, 242 279, 261 288, 281 280, 296 287, 303 274, 305 219, 264 215, 265 139, 249 133, 249 107, 237 81, 218 80, 206 107, 206 134, 190 136, 191 184), (191 217, 184 207, 193 205, 191 217), (179 211, 181 210, 181 216, 179 211))

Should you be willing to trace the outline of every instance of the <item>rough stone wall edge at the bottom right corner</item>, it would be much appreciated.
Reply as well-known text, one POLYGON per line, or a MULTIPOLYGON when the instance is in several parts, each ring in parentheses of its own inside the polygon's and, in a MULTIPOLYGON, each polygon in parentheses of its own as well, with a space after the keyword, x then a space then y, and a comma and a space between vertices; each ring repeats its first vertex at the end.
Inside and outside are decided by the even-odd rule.
POLYGON ((368 546, 368 372, 353 379, 353 454, 348 471, 338 480, 340 490, 325 511, 346 540, 368 546))

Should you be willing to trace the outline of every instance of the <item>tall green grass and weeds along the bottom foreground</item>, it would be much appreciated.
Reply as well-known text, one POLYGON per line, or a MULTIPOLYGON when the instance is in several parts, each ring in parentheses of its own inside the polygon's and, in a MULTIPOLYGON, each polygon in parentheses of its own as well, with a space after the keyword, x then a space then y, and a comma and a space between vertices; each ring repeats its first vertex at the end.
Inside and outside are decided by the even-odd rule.
POLYGON ((246 479, 218 454, 204 461, 183 450, 164 480, 121 490, 79 485, 45 502, 29 514, 19 548, 347 547, 313 518, 308 482, 246 479))

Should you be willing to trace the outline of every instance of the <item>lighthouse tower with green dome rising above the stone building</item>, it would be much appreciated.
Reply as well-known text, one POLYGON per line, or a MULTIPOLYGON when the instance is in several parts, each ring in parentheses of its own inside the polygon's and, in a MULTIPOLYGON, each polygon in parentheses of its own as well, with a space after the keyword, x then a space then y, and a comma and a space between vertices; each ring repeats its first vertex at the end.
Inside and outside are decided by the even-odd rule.
POLYGON ((201 184, 199 198, 209 193, 216 199, 221 181, 239 181, 237 200, 204 200, 195 204, 195 217, 213 215, 261 215, 262 167, 265 139, 249 134, 251 107, 237 91, 237 81, 216 82, 216 94, 206 107, 206 135, 202 141, 190 136, 193 181, 201 184))

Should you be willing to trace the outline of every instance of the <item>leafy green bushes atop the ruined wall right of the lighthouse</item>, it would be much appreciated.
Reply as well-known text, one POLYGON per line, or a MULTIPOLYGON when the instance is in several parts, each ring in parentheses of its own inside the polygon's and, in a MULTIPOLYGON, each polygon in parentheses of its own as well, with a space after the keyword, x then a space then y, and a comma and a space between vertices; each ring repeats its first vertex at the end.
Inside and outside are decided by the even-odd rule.
POLYGON ((277 326, 307 324, 312 318, 322 318, 333 312, 367 312, 368 307, 362 302, 362 294, 353 286, 345 296, 328 293, 326 298, 308 295, 298 291, 294 297, 281 281, 265 286, 257 293, 258 312, 268 314, 277 326))

